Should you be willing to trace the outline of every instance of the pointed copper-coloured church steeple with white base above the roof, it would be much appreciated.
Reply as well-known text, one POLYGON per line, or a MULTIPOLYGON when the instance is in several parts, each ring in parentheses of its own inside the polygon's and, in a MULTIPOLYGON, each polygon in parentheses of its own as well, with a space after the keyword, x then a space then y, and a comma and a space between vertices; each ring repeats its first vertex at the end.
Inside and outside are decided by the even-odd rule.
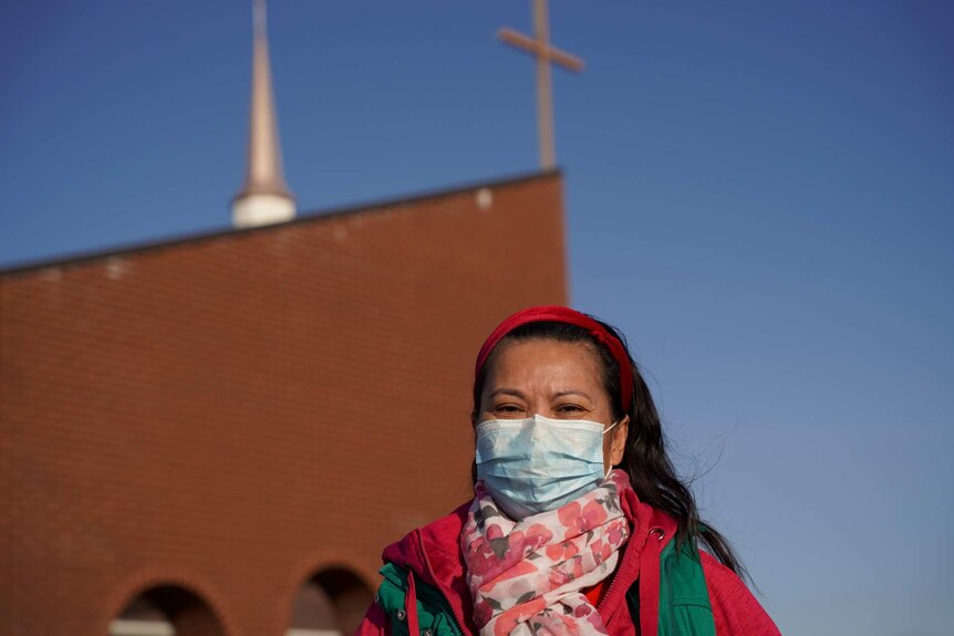
POLYGON ((245 185, 232 200, 232 225, 265 226, 294 218, 294 197, 284 183, 278 117, 271 88, 265 0, 253 0, 251 115, 245 185))

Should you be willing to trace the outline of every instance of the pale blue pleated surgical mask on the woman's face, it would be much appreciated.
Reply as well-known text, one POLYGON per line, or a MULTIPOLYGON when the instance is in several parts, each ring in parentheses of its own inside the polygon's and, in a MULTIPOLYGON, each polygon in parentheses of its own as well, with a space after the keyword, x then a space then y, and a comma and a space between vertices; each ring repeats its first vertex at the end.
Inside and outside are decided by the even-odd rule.
POLYGON ((603 428, 585 419, 488 419, 477 425, 477 479, 514 520, 568 503, 603 475, 603 428))

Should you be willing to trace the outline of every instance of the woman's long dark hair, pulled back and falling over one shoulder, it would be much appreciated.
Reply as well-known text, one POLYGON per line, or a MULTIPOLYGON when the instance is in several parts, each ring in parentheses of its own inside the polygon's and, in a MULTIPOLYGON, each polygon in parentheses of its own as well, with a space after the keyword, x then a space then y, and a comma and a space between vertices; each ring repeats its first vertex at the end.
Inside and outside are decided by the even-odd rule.
MULTIPOLYGON (((629 353, 625 336, 615 327, 602 321, 597 321, 605 330, 615 335, 623 347, 633 368, 633 400, 629 413, 624 411, 620 392, 620 366, 610 352, 600 345, 590 333, 580 326, 561 322, 535 322, 520 325, 508 333, 497 345, 495 352, 484 364, 474 383, 474 421, 480 414, 480 394, 487 379, 487 369, 492 364, 495 353, 500 344, 508 341, 553 340, 558 342, 582 343, 592 350, 603 369, 603 386, 612 402, 613 418, 622 419, 630 416, 626 446, 623 460, 619 467, 630 476, 633 490, 640 501, 662 510, 675 518, 677 525, 676 541, 701 539, 716 559, 729 570, 748 578, 738 555, 729 542, 712 525, 703 523, 698 515, 695 498, 689 488, 676 475, 673 462, 666 455, 665 436, 663 435, 660 414, 653 403, 653 396, 646 386, 639 365, 629 353)), ((476 480, 476 466, 473 467, 476 480)))

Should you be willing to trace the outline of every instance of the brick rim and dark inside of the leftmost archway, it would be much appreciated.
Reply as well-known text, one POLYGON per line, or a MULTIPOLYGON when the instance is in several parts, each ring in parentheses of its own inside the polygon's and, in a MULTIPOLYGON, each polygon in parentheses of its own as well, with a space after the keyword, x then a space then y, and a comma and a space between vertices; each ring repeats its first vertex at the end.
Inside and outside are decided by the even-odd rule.
MULTIPOLYGON (((157 609, 158 613, 172 624, 176 636, 232 636, 235 630, 229 628, 226 619, 216 603, 214 596, 195 582, 183 581, 178 577, 149 577, 139 578, 125 586, 124 593, 117 596, 121 602, 113 604, 113 612, 108 618, 108 626, 136 604, 157 609)), ((108 628, 106 634, 112 634, 108 628)))

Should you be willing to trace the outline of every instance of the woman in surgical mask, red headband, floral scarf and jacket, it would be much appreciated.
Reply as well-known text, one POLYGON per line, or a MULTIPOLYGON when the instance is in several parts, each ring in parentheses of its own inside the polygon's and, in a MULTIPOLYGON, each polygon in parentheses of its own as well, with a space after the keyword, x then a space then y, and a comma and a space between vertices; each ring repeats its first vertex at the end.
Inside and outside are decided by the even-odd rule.
POLYGON ((477 356, 471 420, 474 500, 384 551, 359 634, 778 634, 699 521, 615 330, 511 315, 477 356))

